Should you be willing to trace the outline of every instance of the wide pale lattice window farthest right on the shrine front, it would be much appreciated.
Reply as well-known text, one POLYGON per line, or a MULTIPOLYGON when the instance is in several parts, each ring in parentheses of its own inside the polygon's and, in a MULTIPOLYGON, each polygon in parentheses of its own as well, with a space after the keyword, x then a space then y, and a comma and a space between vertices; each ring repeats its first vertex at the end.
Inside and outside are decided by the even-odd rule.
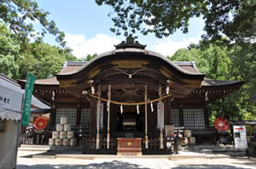
POLYGON ((183 109, 184 127, 197 129, 204 128, 205 115, 203 109, 183 109))

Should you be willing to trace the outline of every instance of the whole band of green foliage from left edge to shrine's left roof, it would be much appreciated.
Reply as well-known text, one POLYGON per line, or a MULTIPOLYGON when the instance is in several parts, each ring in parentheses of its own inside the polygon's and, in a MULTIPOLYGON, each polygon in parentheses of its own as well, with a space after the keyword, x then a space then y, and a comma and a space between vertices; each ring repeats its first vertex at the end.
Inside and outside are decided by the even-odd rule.
POLYGON ((57 48, 43 42, 20 43, 0 22, 0 73, 26 79, 27 72, 38 79, 57 74, 64 61, 77 61, 70 48, 57 48))

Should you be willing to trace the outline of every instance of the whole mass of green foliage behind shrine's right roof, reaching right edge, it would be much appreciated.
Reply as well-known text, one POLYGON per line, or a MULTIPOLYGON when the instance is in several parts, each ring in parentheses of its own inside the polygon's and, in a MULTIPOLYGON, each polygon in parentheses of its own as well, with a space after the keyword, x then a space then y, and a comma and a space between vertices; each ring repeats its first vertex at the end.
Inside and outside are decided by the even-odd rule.
POLYGON ((222 42, 210 43, 205 47, 191 44, 178 49, 171 60, 195 61, 198 69, 208 78, 244 81, 240 90, 224 99, 209 104, 210 122, 222 116, 228 120, 255 120, 256 105, 248 99, 256 91, 256 49, 253 43, 241 46, 233 44, 227 48, 222 42))

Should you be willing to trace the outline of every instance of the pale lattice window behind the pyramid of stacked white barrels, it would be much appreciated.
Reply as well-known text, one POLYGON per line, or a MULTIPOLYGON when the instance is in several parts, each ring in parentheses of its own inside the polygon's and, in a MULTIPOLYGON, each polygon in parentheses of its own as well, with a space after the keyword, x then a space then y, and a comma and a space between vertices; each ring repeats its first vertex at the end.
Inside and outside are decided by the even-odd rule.
POLYGON ((67 122, 74 127, 76 126, 77 109, 57 109, 56 124, 61 123, 61 117, 67 117, 67 122))

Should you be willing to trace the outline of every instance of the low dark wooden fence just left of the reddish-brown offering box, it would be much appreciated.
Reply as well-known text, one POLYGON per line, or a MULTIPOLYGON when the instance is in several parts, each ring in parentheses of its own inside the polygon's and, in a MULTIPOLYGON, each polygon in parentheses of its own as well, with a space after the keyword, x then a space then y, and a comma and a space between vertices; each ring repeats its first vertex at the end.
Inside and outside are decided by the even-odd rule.
POLYGON ((84 154, 104 154, 104 155, 116 155, 117 153, 117 139, 110 138, 109 149, 107 149, 107 139, 100 139, 100 149, 96 149, 95 138, 83 138, 83 153, 84 154))

